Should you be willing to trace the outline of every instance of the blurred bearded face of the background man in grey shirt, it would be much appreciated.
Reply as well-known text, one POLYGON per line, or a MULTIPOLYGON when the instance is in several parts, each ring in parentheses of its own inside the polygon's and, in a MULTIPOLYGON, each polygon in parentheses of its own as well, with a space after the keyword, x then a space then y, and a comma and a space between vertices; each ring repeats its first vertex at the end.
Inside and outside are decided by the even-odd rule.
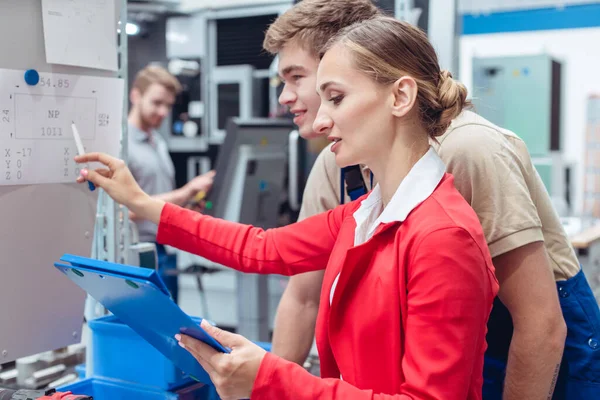
POLYGON ((175 95, 159 83, 151 84, 144 94, 133 89, 131 102, 136 107, 142 125, 157 129, 173 108, 175 95))

